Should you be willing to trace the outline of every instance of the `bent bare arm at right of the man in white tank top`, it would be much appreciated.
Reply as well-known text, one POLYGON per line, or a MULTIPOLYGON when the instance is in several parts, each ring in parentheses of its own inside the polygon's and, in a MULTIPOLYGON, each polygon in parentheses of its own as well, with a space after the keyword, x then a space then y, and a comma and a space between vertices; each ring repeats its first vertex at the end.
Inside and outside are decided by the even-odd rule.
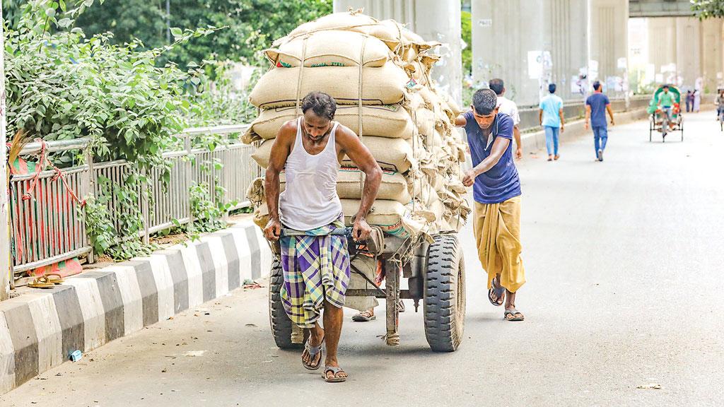
POLYGON ((371 228, 367 224, 367 214, 377 198, 377 190, 382 182, 382 169, 369 152, 369 149, 362 144, 357 135, 345 126, 337 127, 335 134, 337 143, 340 143, 342 152, 350 157, 357 168, 365 174, 364 186, 360 207, 355 215, 355 223, 352 229, 352 237, 355 240, 365 240, 369 237, 371 228))

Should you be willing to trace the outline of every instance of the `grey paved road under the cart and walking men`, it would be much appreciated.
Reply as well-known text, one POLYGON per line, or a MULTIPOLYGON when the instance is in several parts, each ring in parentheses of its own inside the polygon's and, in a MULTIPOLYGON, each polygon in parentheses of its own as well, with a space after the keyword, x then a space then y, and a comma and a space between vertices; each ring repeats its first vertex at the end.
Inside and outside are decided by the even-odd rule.
POLYGON ((646 122, 613 127, 604 163, 589 138, 565 144, 557 162, 527 156, 527 319, 505 322, 488 303, 468 227, 455 353, 429 351, 408 303, 398 348, 376 337, 383 319, 345 322, 350 379, 327 384, 275 348, 266 291, 238 290, 46 372, 0 405, 721 405, 724 134, 713 116, 688 116, 684 143, 649 143, 646 122), (648 385, 661 388, 637 388, 648 385))

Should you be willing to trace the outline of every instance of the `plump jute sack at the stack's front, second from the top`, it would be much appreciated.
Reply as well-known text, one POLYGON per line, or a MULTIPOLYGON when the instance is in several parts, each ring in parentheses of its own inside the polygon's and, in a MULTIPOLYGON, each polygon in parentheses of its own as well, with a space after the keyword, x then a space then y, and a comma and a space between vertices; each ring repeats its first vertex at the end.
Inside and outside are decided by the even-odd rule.
POLYGON ((360 64, 363 67, 382 67, 390 57, 390 49, 378 38, 369 35, 329 30, 295 38, 279 48, 264 50, 264 54, 276 67, 298 67, 302 57, 305 67, 353 67, 360 64))

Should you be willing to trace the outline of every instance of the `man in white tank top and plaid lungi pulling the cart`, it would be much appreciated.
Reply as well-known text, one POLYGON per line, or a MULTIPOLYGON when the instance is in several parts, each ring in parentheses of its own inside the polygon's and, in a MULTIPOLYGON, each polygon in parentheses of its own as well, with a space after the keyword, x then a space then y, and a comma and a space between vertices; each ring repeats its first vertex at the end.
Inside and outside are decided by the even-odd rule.
POLYGON ((337 361, 337 345, 350 280, 350 255, 347 238, 332 235, 333 230, 345 227, 337 196, 339 157, 346 154, 366 175, 353 226, 355 240, 366 240, 370 235, 365 217, 377 196, 382 169, 352 130, 334 122, 334 98, 312 92, 303 98, 301 107, 303 116, 286 122, 271 147, 264 182, 269 206, 264 236, 270 241, 280 240, 284 309, 294 324, 309 331, 303 366, 319 369, 326 342, 322 377, 327 382, 344 382, 348 374, 337 361), (282 170, 287 188, 279 194, 282 170), (295 231, 294 235, 282 237, 282 227, 295 231), (324 328, 319 319, 323 319, 324 328))

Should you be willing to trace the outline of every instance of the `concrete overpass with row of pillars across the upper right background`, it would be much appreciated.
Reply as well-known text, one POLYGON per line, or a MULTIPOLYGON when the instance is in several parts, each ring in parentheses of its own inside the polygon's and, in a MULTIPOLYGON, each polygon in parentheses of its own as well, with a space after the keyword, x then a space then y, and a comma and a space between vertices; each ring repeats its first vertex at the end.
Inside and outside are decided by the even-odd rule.
MULTIPOLYGON (((649 86, 667 82, 707 93, 724 84, 723 20, 698 20, 688 0, 470 0, 469 5, 473 86, 501 77, 508 96, 521 105, 537 104, 549 83, 556 83, 567 101, 583 99, 594 80, 610 96, 625 98, 632 75, 637 85, 645 79, 649 86)), ((459 101, 458 0, 334 0, 335 12, 350 7, 445 43, 433 76, 459 101)))

